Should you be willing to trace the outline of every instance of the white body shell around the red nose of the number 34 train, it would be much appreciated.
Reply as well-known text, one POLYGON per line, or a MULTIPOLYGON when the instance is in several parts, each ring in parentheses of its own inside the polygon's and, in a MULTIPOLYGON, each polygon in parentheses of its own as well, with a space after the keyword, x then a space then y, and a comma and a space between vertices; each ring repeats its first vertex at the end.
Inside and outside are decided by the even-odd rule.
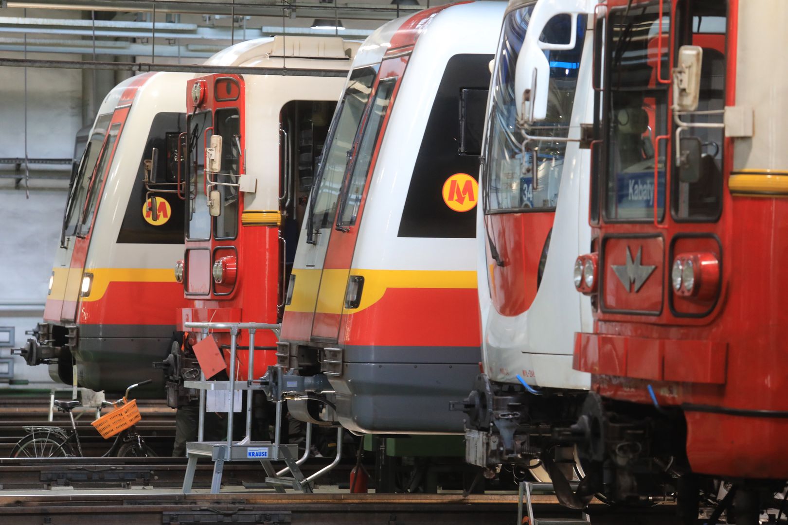
MULTIPOLYGON (((543 2, 549 3, 536 2, 534 12, 543 2)), ((509 11, 512 6, 522 8, 528 4, 533 2, 511 2, 509 11)), ((496 68, 500 67, 500 52, 496 56, 496 68)), ((575 140, 580 137, 580 124, 593 120, 592 52, 593 32, 587 31, 570 120, 569 137, 575 140)), ((486 126, 489 127, 489 121, 486 126)), ((488 138, 485 133, 485 139, 488 138)), ((578 294, 572 281, 574 261, 578 254, 588 251, 591 241, 589 163, 589 150, 581 150, 578 142, 567 144, 541 285, 530 307, 519 315, 503 315, 492 304, 489 239, 485 233, 484 210, 478 209, 482 353, 485 373, 492 382, 519 384, 516 375, 521 375, 533 386, 589 388, 589 374, 572 369, 574 333, 589 329, 593 323, 589 298, 578 294)))

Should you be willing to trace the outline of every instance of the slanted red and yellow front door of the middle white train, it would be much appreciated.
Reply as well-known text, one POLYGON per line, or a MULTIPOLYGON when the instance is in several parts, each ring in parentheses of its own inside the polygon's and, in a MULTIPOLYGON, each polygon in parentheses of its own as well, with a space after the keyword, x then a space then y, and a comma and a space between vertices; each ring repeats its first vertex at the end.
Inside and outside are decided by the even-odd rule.
POLYGON ((363 283, 358 277, 351 277, 351 263, 370 187, 370 174, 374 171, 407 58, 381 62, 361 126, 347 152, 349 162, 336 202, 336 215, 330 223, 332 229, 325 235, 328 242, 312 323, 314 341, 337 342, 344 309, 347 306, 355 308, 360 301, 363 283))

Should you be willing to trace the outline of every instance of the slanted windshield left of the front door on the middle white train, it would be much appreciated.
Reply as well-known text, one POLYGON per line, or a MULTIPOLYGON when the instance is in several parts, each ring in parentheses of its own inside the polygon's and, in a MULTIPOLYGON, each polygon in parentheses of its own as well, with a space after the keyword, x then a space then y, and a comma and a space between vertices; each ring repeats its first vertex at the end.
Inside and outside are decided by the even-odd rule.
POLYGON ((310 227, 313 231, 333 224, 336 201, 345 170, 348 168, 351 148, 376 76, 377 66, 358 68, 351 73, 350 83, 342 98, 339 117, 330 132, 328 150, 324 153, 318 173, 318 183, 311 205, 310 227))

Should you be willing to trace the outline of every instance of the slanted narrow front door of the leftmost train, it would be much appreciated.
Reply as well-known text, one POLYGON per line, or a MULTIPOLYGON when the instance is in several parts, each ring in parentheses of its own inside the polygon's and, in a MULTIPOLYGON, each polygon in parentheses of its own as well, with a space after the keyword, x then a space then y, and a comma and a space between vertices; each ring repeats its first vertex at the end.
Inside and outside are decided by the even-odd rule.
POLYGON ((62 303, 60 320, 75 321, 76 306, 80 297, 90 293, 93 284, 93 275, 84 272, 87 251, 91 245, 95 217, 99 209, 106 184, 107 174, 112 165, 112 159, 117 148, 117 140, 121 135, 121 128, 136 94, 136 85, 128 87, 121 95, 117 108, 113 112, 103 137, 95 140, 91 137, 90 150, 85 155, 84 168, 80 168, 74 181, 72 202, 66 217, 65 236, 72 238, 71 261, 62 289, 62 303))

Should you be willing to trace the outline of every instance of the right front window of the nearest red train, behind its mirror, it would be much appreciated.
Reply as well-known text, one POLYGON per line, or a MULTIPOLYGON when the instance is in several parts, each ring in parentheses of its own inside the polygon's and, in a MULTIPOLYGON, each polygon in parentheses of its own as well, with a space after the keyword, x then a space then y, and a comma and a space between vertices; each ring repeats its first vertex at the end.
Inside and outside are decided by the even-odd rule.
POLYGON ((681 116, 690 124, 682 131, 682 142, 696 141, 701 155, 692 169, 675 166, 678 176, 671 178, 671 210, 678 220, 716 220, 723 195, 723 128, 697 128, 692 124, 723 124, 727 6, 719 0, 681 2, 676 12, 684 31, 676 31, 675 48, 684 44, 703 48, 698 113, 681 116))

